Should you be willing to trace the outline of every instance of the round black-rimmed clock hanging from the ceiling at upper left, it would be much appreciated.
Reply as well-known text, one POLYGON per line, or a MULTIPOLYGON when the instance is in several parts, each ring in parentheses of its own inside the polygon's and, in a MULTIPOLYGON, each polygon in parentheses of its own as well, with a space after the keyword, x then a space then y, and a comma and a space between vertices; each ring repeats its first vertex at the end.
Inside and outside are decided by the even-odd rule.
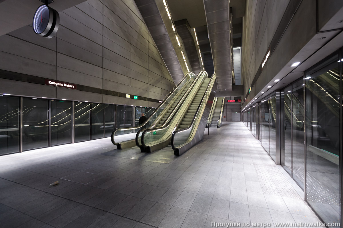
POLYGON ((52 38, 58 30, 60 16, 58 12, 47 5, 41 5, 33 17, 33 30, 36 34, 52 38))

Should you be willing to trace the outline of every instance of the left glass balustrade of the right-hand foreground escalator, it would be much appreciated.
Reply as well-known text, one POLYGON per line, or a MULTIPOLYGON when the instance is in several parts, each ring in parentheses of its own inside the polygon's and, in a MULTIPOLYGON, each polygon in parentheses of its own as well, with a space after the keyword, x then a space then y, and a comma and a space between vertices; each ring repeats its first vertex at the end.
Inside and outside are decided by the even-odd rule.
MULTIPOLYGON (((153 152, 155 150, 163 149, 170 144, 173 131, 181 124, 181 120, 186 111, 189 108, 190 110, 193 109, 190 105, 206 78, 208 78, 207 72, 201 71, 196 80, 194 80, 194 84, 191 85, 191 88, 189 88, 184 97, 182 97, 182 102, 180 100, 181 104, 179 103, 178 107, 175 107, 163 125, 158 128, 146 129, 142 132, 141 145, 144 151, 153 152)), ((194 109, 196 108, 194 107, 194 109)), ((195 111, 196 110, 194 110, 194 112, 195 111)))

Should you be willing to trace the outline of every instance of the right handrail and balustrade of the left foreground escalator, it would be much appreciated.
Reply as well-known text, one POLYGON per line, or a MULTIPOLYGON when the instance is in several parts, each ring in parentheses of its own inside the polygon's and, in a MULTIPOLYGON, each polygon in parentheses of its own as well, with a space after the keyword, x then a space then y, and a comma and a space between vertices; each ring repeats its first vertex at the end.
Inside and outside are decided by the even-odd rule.
MULTIPOLYGON (((150 131, 152 129, 162 129, 164 128, 168 121, 170 121, 170 118, 175 114, 175 112, 178 110, 178 108, 180 107, 180 105, 182 104, 182 102, 184 102, 185 97, 187 97, 187 94, 193 89, 193 86, 198 82, 198 79, 200 78, 200 76, 202 75, 202 73, 205 71, 201 71, 199 72, 199 74, 194 78, 194 80, 192 81, 191 85, 189 86, 189 88, 187 89, 187 91, 184 93, 184 95, 180 98, 179 102, 177 103, 177 105, 173 108, 173 111, 169 114, 168 118, 164 121, 164 123, 161 126, 155 127, 155 128, 147 128, 147 129, 141 129, 137 132, 137 135, 135 137, 135 143, 138 147, 143 148, 146 147, 145 146, 145 142, 144 142, 144 137, 145 137, 145 132, 150 131)), ((160 131, 160 130, 158 130, 160 131)))

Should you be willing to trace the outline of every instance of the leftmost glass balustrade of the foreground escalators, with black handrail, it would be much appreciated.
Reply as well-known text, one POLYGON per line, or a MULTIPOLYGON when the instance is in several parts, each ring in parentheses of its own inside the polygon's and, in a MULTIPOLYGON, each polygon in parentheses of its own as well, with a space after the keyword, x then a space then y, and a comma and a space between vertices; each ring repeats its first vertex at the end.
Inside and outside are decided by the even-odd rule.
POLYGON ((165 115, 169 107, 175 102, 178 98, 178 95, 182 93, 182 90, 188 85, 191 84, 196 76, 194 73, 188 73, 183 79, 179 81, 177 85, 166 95, 166 98, 163 100, 161 105, 156 108, 151 116, 147 120, 134 127, 129 128, 117 128, 111 134, 111 141, 118 149, 125 149, 135 146, 135 132, 140 129, 150 128, 153 125, 156 125, 158 121, 165 115))

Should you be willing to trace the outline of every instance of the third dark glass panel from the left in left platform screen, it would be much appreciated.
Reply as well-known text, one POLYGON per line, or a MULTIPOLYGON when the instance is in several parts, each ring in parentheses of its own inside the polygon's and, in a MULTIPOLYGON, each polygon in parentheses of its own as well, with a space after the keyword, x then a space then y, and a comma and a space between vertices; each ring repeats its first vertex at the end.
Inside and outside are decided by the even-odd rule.
POLYGON ((71 143, 71 102, 51 101, 51 146, 71 143))

